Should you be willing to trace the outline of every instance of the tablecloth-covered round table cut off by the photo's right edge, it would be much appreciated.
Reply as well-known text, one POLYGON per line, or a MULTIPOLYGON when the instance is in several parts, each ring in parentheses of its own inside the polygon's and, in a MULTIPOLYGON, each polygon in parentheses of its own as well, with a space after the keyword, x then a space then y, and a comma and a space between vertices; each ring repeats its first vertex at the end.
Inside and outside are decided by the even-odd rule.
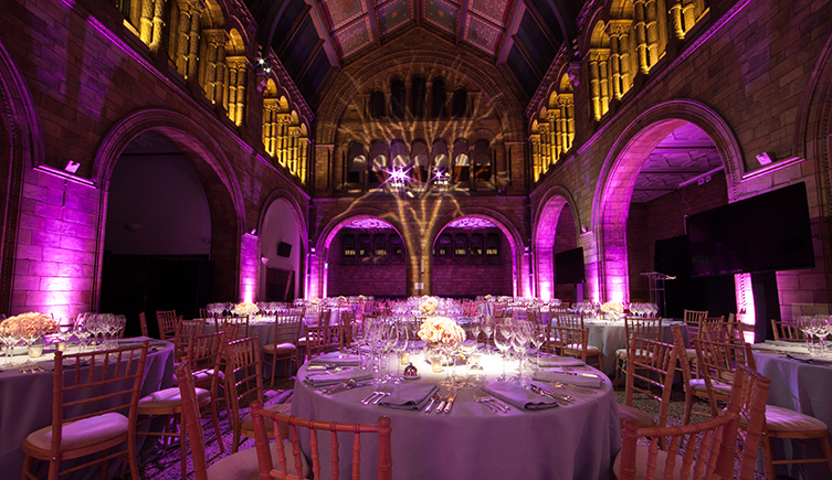
MULTIPOLYGON (((797 410, 832 426, 832 359, 813 359, 804 346, 794 343, 769 342, 754 346, 757 371, 771 381, 768 405, 797 410)), ((820 451, 804 449, 797 441, 773 441, 772 449, 775 459, 822 458, 820 451)), ((793 471, 798 469, 804 472, 802 478, 832 480, 832 472, 825 463, 778 466, 778 473, 797 479, 801 478, 798 471, 793 471)), ((758 459, 758 470, 762 470, 761 459, 758 459)))

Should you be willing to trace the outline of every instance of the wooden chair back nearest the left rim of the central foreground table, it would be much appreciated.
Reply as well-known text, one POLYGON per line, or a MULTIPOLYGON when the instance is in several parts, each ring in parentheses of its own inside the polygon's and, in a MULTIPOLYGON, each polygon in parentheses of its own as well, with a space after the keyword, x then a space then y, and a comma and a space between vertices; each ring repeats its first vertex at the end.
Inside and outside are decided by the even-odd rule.
POLYGON ((225 344, 225 390, 229 393, 229 418, 233 430, 232 452, 240 447, 240 404, 244 398, 263 403, 263 365, 257 335, 225 344))

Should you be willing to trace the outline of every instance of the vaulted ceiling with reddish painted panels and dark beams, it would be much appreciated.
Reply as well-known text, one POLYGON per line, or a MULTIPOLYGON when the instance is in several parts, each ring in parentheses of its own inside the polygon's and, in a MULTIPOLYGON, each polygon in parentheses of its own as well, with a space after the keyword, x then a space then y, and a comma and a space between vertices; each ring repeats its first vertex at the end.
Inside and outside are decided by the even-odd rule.
POLYGON ((582 3, 583 0, 246 0, 260 25, 260 43, 271 45, 314 109, 316 93, 328 77, 414 28, 440 33, 450 49, 466 44, 495 65, 504 65, 527 103, 560 45, 575 38, 582 3))

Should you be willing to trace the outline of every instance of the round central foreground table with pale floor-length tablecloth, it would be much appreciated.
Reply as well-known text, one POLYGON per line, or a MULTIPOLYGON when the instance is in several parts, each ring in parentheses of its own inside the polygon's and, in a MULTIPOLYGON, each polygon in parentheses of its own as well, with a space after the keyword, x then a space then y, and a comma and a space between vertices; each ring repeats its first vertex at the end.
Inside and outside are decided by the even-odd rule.
MULTIPOLYGON (((438 384, 446 373, 433 373, 421 353, 411 356, 419 378, 402 380, 392 387, 402 388, 412 382, 438 384)), ((307 364, 308 365, 308 364, 307 364)), ((306 380, 310 372, 304 365, 295 382, 292 415, 320 422, 377 424, 379 417, 391 419, 392 478, 424 479, 609 479, 612 460, 620 449, 619 414, 612 385, 605 375, 589 366, 575 371, 598 378, 598 388, 554 388, 573 399, 567 405, 537 410, 493 412, 486 403, 475 402, 474 394, 489 390, 502 373, 497 355, 483 355, 485 377, 473 390, 455 392, 457 397, 447 414, 425 414, 419 409, 394 409, 360 403, 377 386, 368 385, 327 395, 306 380)), ((508 373, 516 362, 509 363, 508 373)), ((460 365, 459 373, 464 374, 460 365)), ((319 373, 319 372, 318 372, 319 373)), ((536 382, 537 383, 537 382, 536 382)), ((447 388, 440 387, 442 396, 447 388)), ((318 435, 324 478, 329 478, 328 433, 318 435)), ((340 437, 339 437, 340 438, 340 437)), ((303 440, 303 436, 302 436, 303 440)), ((308 437, 306 454, 308 457, 308 437)), ((377 445, 375 438, 361 441, 361 478, 376 478, 377 445)), ((349 478, 351 439, 341 440, 340 477, 349 478)))

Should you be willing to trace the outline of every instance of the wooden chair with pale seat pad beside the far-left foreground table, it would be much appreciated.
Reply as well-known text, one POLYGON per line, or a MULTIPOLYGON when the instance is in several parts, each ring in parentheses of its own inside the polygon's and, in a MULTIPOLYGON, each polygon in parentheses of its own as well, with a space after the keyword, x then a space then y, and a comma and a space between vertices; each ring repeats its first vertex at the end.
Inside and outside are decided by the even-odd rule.
MULTIPOLYGON (((64 354, 55 352, 55 366, 52 387, 52 441, 50 461, 50 479, 56 478, 60 471, 61 458, 74 458, 97 451, 116 449, 119 445, 126 448, 117 455, 136 458, 136 419, 137 405, 145 375, 147 359, 147 342, 138 346, 103 350, 88 353, 64 354), (65 454, 62 448, 63 427, 69 423, 82 422, 99 415, 120 413, 127 417, 128 427, 124 435, 84 448, 85 451, 65 454)), ((89 433, 95 435, 94 431, 89 433)), ((24 448, 25 450, 25 448, 24 448)), ((116 454, 109 451, 107 456, 95 456, 82 466, 106 461, 116 454), (112 454, 112 455, 110 455, 112 454)), ((127 459, 125 459, 127 460, 127 459)), ((135 460, 129 461, 131 477, 138 478, 138 467, 135 460)))

